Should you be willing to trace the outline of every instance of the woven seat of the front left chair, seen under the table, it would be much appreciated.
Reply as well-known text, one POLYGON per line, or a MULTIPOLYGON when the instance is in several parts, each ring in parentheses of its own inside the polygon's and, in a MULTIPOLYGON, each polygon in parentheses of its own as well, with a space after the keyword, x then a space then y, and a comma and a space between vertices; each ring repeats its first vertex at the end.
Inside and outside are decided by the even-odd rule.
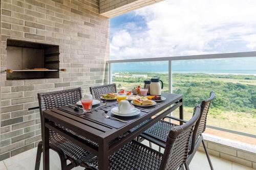
MULTIPOLYGON (((63 129, 65 129, 65 128, 63 128, 63 129)), ((67 129, 65 129, 65 130, 67 130, 67 129)), ((69 130, 67 130, 67 131, 69 131, 69 130)), ((74 134, 74 132, 73 132, 73 134, 74 134)), ((54 132, 52 130, 49 131, 49 136, 50 136, 49 137, 50 145, 54 145, 55 147, 61 149, 65 153, 67 158, 72 163, 75 164, 75 166, 80 165, 83 167, 87 167, 88 165, 85 162, 90 162, 95 157, 90 152, 82 149, 78 145, 74 144, 70 140, 66 139, 65 137, 57 134, 56 132, 54 132)), ((86 142, 90 142, 91 144, 96 145, 93 141, 90 141, 89 139, 86 139, 82 136, 79 136, 79 137, 82 138, 86 142)))

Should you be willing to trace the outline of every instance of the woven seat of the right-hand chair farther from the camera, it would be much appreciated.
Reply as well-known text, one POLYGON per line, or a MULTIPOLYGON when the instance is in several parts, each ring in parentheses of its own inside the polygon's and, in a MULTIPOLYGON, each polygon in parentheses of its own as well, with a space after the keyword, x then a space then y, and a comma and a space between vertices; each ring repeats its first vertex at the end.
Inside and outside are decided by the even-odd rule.
POLYGON ((154 137, 162 142, 166 142, 169 131, 178 125, 160 120, 152 127, 148 128, 143 134, 154 137))

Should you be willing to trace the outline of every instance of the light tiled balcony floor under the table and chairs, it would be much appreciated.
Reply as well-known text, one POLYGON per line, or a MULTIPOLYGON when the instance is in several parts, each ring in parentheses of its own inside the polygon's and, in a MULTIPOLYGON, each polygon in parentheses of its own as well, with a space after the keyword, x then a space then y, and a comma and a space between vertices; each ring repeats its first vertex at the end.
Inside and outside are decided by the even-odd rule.
MULTIPOLYGON (((148 144, 148 142, 144 142, 148 144)), ((153 145, 155 149, 158 149, 156 145, 153 145)), ((13 156, 4 161, 0 161, 0 170, 32 170, 34 169, 36 157, 36 148, 21 153, 19 155, 13 156)), ((220 159, 214 156, 211 156, 212 164, 215 170, 253 170, 252 168, 233 163, 224 159, 220 159)), ((42 162, 42 161, 41 161, 42 162)), ((210 169, 207 158, 204 153, 197 152, 194 159, 189 165, 190 170, 208 170, 210 169)), ((42 163, 40 164, 40 169, 42 169, 42 163)), ((58 155, 50 151, 50 169, 58 170, 60 169, 60 161, 58 155)), ((76 170, 83 170, 82 167, 74 168, 76 170)))

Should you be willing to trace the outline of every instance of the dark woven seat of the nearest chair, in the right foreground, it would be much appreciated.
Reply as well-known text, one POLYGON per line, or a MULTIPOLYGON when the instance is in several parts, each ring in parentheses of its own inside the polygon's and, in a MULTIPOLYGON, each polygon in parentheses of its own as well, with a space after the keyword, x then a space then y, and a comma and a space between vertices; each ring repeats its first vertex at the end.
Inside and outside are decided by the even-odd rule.
MULTIPOLYGON (((162 153, 133 140, 109 157, 109 169, 159 169, 162 157, 162 153)), ((98 160, 91 165, 97 169, 98 160)))

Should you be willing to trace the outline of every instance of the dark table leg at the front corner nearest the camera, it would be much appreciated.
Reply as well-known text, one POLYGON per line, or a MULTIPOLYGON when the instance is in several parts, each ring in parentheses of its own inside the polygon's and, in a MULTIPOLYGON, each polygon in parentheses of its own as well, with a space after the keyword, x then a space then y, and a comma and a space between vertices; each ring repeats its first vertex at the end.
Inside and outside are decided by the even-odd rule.
POLYGON ((109 169, 109 143, 106 141, 99 142, 99 170, 109 169))

